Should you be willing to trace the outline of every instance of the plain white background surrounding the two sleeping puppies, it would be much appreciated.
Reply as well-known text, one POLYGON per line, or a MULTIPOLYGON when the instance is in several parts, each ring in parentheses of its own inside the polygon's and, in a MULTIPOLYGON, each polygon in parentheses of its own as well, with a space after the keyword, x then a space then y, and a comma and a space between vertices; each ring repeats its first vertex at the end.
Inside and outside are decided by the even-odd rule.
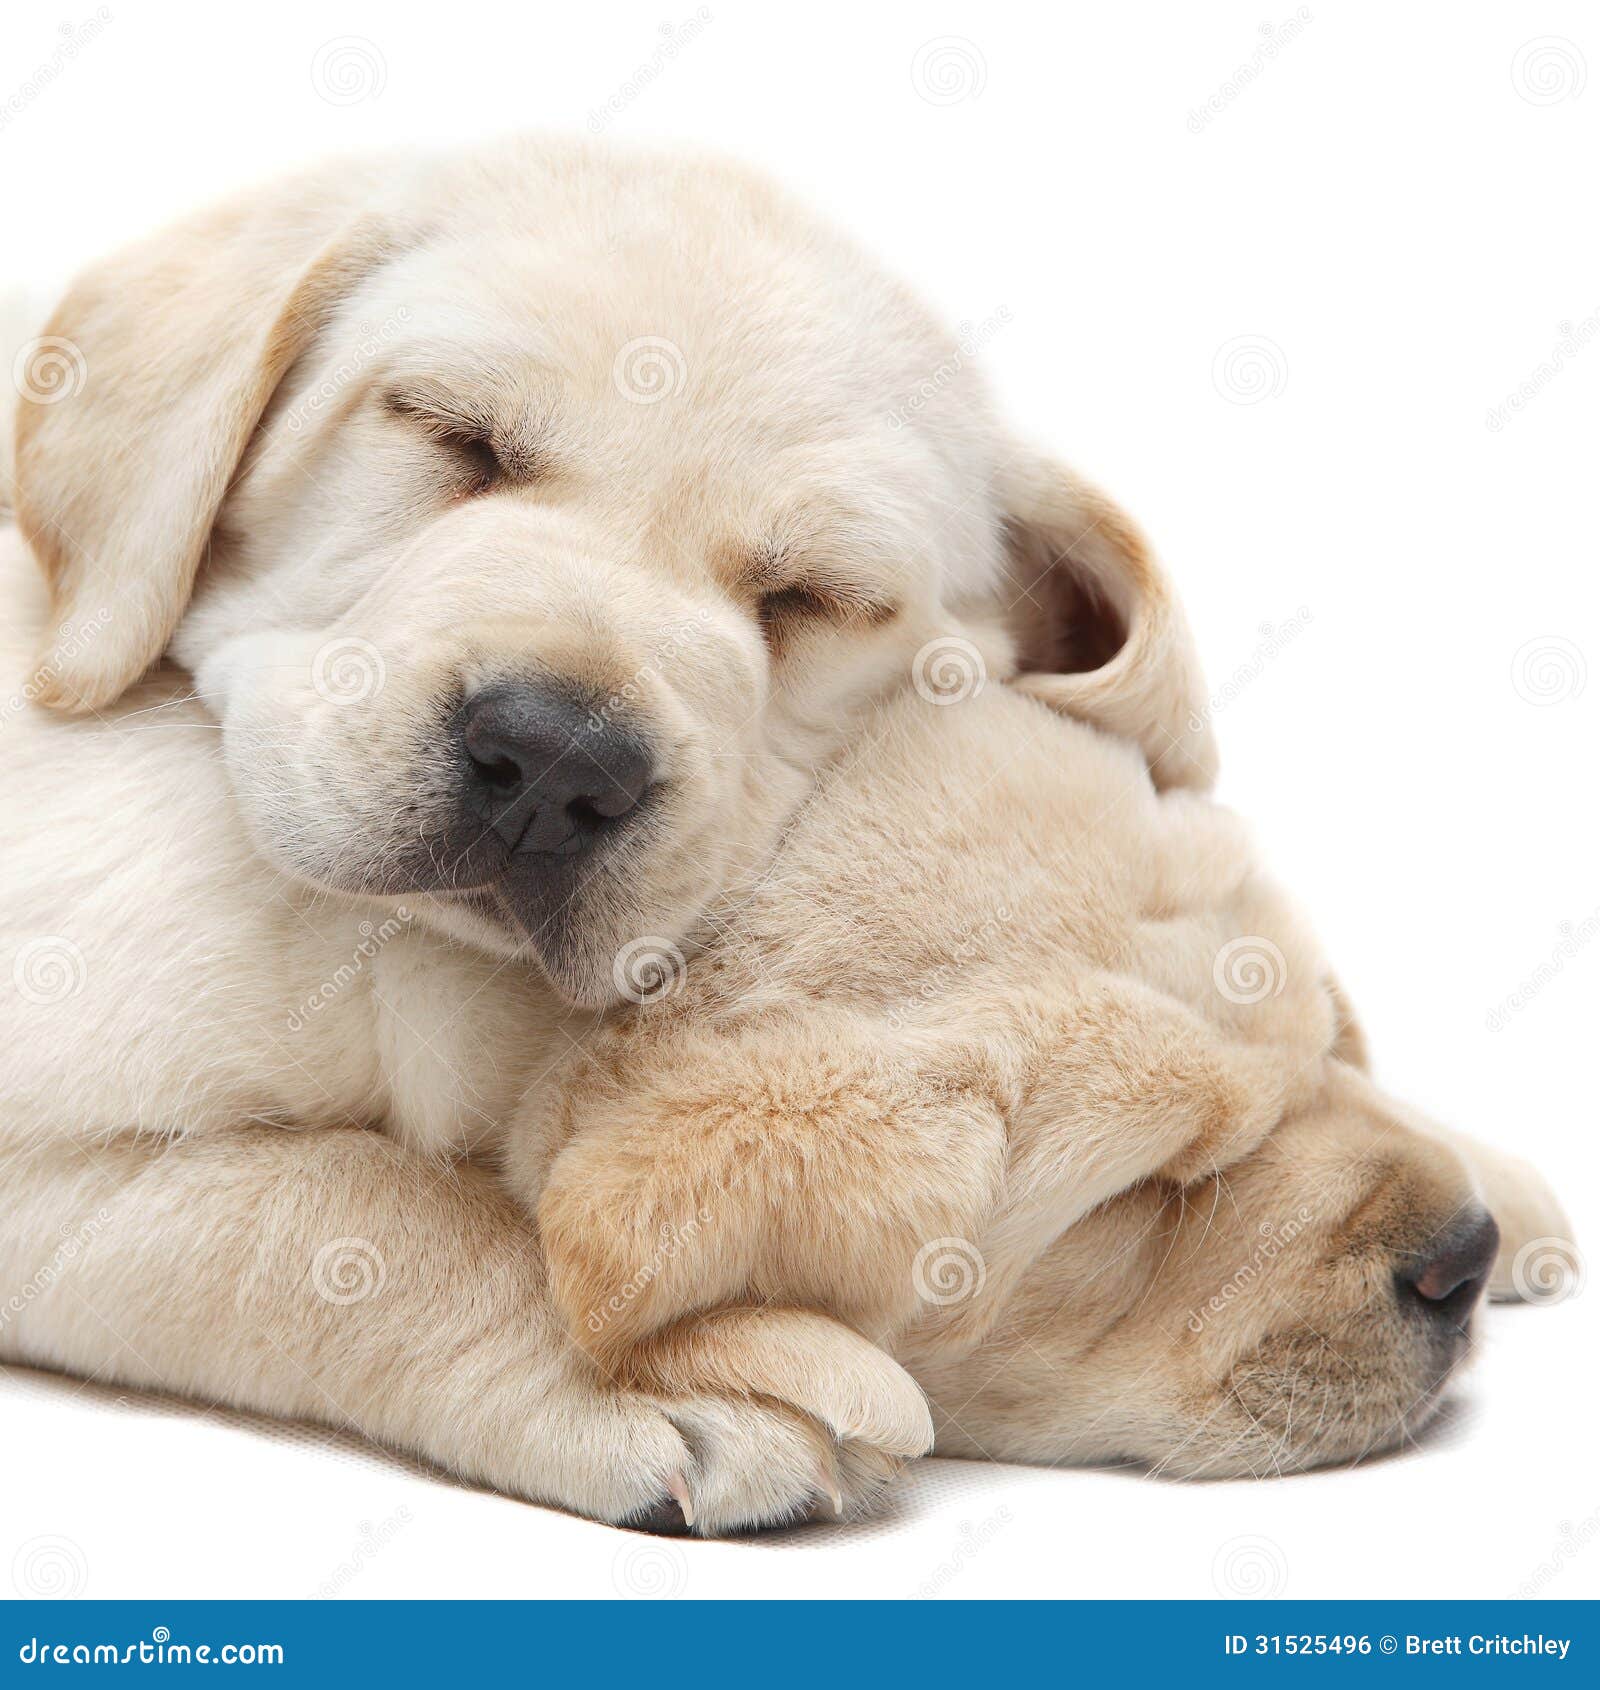
MULTIPOLYGON (((1178 576, 1227 686, 1223 793, 1316 916, 1380 1077, 1539 1161, 1592 1240, 1600 17, 708 14, 664 56, 686 0, 113 3, 63 59, 88 0, 10 0, 0 286, 331 149, 605 113, 769 166, 955 321, 1005 308, 982 358, 1178 576)), ((351 1595, 907 1595, 941 1565, 963 1597, 1595 1594, 1597 1306, 1492 1311, 1463 1413, 1397 1460, 1203 1487, 929 1464, 880 1524, 755 1545, 0 1376, 0 1590, 34 1545, 34 1585, 61 1565, 91 1595, 302 1595, 341 1563, 351 1595)))

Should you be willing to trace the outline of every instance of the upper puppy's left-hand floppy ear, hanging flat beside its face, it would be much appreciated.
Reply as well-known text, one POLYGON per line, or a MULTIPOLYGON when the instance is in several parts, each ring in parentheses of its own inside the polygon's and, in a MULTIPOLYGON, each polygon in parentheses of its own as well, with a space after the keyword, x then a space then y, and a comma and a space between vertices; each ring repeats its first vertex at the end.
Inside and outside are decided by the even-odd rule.
POLYGON ((274 389, 390 250, 356 221, 353 181, 191 218, 91 267, 56 309, 44 345, 71 390, 20 406, 15 456, 17 521, 54 593, 42 703, 96 710, 166 647, 274 389))

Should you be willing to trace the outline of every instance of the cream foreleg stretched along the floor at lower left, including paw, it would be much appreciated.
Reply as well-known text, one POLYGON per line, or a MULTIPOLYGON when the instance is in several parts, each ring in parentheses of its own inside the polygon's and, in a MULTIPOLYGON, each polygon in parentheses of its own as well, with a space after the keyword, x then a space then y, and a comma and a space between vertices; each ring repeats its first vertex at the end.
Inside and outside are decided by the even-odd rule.
POLYGON ((3 1360, 348 1426, 610 1521, 672 1497, 693 1513, 705 1484, 701 1518, 732 1529, 826 1489, 784 1416, 696 1423, 691 1447, 603 1387, 547 1308, 532 1227, 480 1169, 375 1132, 252 1129, 10 1149, 0 1180, 3 1360), (715 1477, 735 1433, 759 1491, 715 1477))

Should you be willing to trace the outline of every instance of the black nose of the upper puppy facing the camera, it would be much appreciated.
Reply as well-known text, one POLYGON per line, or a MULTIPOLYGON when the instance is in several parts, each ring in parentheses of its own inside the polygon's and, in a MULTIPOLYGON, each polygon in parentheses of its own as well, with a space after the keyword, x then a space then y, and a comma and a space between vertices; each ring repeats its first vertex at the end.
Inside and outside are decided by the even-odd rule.
POLYGON ((647 745, 551 688, 485 688, 458 725, 466 810, 517 853, 574 857, 650 786, 647 745))

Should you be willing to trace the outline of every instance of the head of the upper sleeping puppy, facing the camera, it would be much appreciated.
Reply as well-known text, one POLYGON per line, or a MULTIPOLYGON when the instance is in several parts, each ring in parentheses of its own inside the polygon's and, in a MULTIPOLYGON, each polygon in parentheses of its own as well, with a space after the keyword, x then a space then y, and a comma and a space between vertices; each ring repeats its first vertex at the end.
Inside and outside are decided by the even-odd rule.
POLYGON ((106 710, 171 654, 279 867, 576 1000, 762 859, 953 607, 1051 668, 1139 646, 1125 519, 723 164, 346 164, 101 264, 47 335, 83 380, 20 409, 34 696, 106 710))

